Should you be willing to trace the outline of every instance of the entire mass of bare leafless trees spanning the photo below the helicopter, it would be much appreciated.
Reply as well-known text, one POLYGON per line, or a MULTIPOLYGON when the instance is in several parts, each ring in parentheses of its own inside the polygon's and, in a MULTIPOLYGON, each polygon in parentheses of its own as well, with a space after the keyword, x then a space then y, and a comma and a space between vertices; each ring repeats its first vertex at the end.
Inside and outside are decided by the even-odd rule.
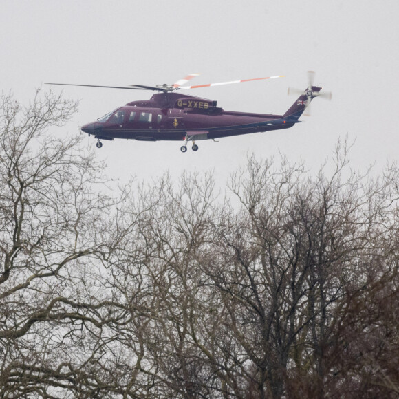
POLYGON ((398 187, 248 159, 112 191, 76 103, 0 104, 0 396, 394 397, 398 187))

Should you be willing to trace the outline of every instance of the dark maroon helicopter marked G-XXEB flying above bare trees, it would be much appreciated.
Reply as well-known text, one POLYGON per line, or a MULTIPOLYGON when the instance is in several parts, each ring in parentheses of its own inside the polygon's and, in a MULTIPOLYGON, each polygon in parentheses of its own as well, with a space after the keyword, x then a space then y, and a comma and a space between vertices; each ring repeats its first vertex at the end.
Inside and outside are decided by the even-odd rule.
POLYGON ((173 85, 131 85, 102 86, 75 85, 70 83, 47 83, 49 85, 67 85, 83 87, 105 87, 109 89, 133 89, 158 91, 149 100, 138 100, 114 109, 94 122, 80 127, 81 131, 97 139, 96 147, 103 147, 101 140, 133 139, 155 142, 171 140, 183 142, 180 151, 187 151, 191 142, 193 151, 198 150, 195 142, 214 140, 228 136, 238 136, 248 133, 288 129, 301 122, 300 116, 315 97, 331 99, 330 92, 321 93, 323 87, 313 85, 314 72, 308 71, 308 87, 303 91, 288 89, 288 94, 299 94, 299 98, 283 115, 251 114, 247 112, 224 111, 217 107, 215 100, 189 96, 177 93, 184 89, 197 89, 232 83, 244 83, 254 80, 281 78, 283 76, 268 76, 234 80, 207 85, 184 86, 198 74, 189 74, 173 85))

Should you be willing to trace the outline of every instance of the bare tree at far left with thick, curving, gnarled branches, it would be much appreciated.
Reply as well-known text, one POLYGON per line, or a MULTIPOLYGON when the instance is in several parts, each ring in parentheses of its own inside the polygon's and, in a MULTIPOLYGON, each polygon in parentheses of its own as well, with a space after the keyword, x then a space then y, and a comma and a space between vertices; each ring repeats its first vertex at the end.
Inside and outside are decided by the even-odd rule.
POLYGON ((38 91, 23 108, 3 95, 0 110, 1 396, 70 388, 81 397, 79 386, 93 391, 96 356, 85 330, 100 328, 105 307, 91 301, 98 287, 88 278, 109 227, 110 202, 93 188, 100 165, 80 138, 47 133, 74 114, 74 101, 38 91))

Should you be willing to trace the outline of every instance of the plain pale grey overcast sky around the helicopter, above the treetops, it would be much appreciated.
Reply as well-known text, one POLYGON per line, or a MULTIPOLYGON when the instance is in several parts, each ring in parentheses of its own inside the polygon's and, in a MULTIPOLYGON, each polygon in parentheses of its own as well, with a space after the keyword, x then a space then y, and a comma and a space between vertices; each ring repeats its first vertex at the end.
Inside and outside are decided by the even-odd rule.
MULTIPOLYGON (((399 93, 398 0, 2 0, 0 79, 3 91, 27 103, 45 82, 158 85, 199 73, 195 84, 285 75, 188 94, 231 111, 282 114, 294 102, 287 88, 305 89, 306 71, 332 91, 312 116, 285 131, 198 142, 104 142, 98 157, 109 177, 149 180, 169 170, 214 169, 224 182, 246 162, 287 155, 310 168, 330 157, 338 137, 355 140, 352 167, 397 159, 399 93)), ((61 87, 54 87, 60 91, 61 87)), ((80 110, 63 135, 151 92, 65 87, 80 110)), ((85 139, 94 146, 95 140, 85 139)))

